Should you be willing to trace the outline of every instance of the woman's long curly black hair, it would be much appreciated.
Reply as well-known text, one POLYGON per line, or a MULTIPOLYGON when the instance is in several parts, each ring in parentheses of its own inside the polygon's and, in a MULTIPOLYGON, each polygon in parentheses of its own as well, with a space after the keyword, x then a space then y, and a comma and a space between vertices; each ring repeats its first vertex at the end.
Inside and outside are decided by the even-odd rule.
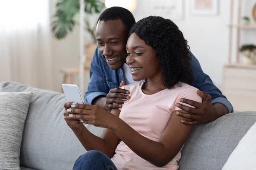
POLYGON ((156 51, 166 88, 192 81, 189 45, 175 23, 163 17, 149 16, 134 24, 129 36, 133 33, 156 51))

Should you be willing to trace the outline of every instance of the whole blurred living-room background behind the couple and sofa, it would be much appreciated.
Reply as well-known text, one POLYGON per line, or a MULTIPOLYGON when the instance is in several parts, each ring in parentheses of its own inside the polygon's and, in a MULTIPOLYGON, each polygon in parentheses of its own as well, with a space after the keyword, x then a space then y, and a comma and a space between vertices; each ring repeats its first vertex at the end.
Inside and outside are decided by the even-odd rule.
POLYGON ((82 19, 80 3, 0 0, 0 82, 61 92, 62 83, 81 84, 79 64, 86 57, 85 92, 99 14, 122 6, 136 21, 149 15, 173 20, 235 111, 256 110, 256 0, 84 0, 82 19))

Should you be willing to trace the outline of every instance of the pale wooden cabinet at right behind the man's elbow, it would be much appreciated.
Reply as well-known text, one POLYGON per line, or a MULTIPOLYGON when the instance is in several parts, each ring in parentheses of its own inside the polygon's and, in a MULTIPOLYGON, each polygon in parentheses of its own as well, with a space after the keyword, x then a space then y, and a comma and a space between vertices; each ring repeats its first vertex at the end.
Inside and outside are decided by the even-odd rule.
POLYGON ((234 111, 256 111, 256 65, 224 65, 222 93, 234 111))

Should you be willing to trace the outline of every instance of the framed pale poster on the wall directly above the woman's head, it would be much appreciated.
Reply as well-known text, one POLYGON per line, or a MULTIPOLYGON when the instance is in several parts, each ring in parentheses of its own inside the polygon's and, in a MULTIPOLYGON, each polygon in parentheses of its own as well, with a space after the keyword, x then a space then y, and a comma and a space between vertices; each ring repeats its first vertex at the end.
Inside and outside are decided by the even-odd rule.
POLYGON ((151 15, 170 20, 183 20, 183 0, 151 0, 151 15))

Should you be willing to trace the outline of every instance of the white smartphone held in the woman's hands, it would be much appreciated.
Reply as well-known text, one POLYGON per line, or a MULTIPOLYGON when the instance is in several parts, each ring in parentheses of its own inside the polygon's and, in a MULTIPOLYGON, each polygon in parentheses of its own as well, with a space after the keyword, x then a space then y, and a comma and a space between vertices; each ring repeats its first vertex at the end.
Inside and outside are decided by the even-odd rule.
POLYGON ((62 88, 66 96, 67 102, 76 102, 77 104, 84 104, 84 100, 78 85, 62 84, 62 88))

